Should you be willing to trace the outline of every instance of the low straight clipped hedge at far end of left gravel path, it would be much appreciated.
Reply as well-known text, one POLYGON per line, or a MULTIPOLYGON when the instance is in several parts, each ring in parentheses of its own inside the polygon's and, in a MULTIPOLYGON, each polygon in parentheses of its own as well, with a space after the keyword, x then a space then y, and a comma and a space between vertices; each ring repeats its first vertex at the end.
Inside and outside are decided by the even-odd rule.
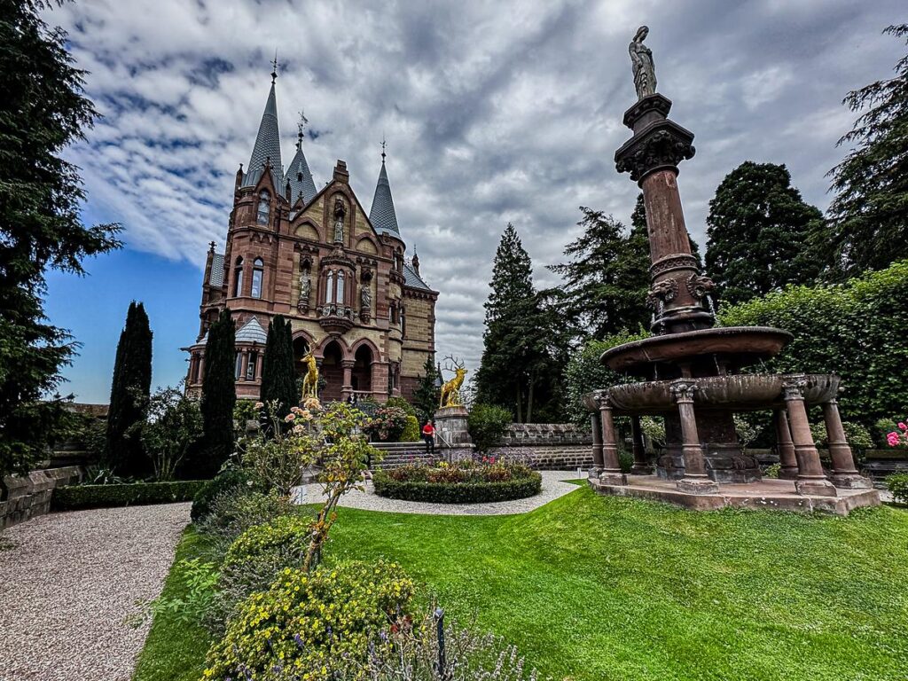
POLYGON ((54 489, 52 505, 56 510, 74 510, 192 501, 205 482, 206 480, 178 480, 121 485, 71 485, 54 489))

